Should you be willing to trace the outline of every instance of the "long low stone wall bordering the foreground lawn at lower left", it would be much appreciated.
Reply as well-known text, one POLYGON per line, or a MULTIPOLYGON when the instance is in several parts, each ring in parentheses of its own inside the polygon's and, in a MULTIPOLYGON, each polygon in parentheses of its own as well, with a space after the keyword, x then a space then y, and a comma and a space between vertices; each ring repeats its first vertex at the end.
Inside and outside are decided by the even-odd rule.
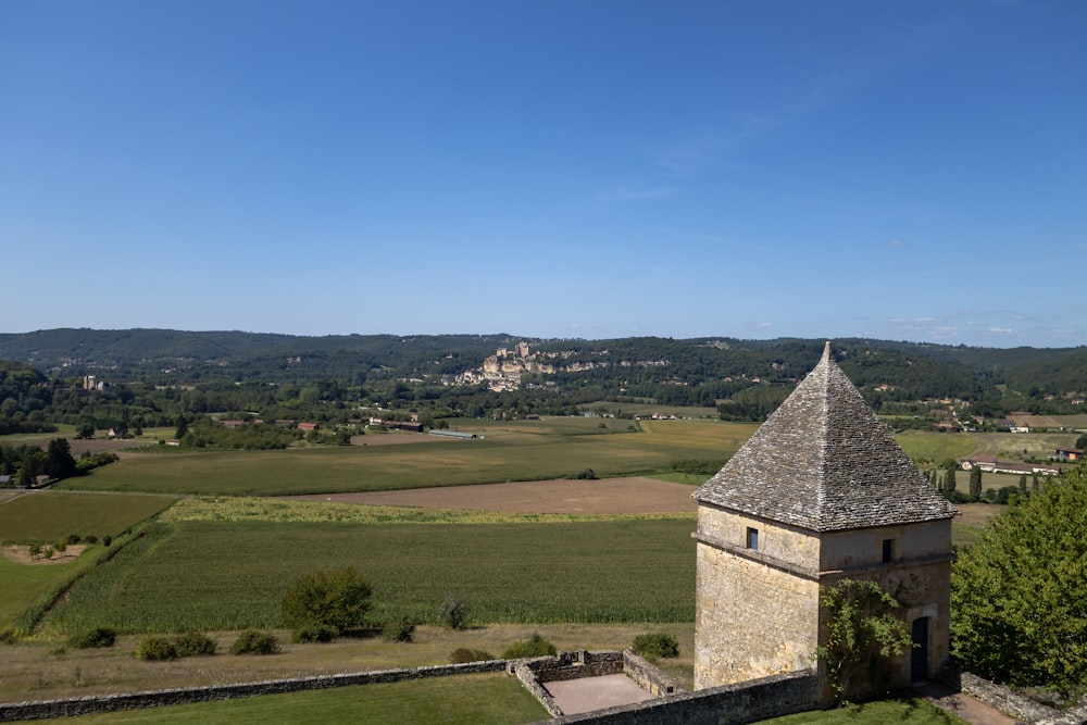
POLYGON ((397 683, 405 679, 421 679, 424 677, 467 675, 478 672, 501 672, 505 668, 505 660, 488 660, 485 662, 437 665, 433 667, 415 667, 411 670, 380 670, 377 672, 360 672, 341 675, 318 675, 312 677, 270 679, 261 683, 246 683, 238 685, 209 685, 207 687, 151 690, 147 692, 130 692, 125 695, 99 695, 68 700, 13 702, 0 704, 0 722, 45 720, 49 717, 65 717, 70 715, 85 715, 90 713, 117 712, 122 710, 137 710, 140 708, 159 708, 170 704, 207 702, 210 700, 229 700, 233 698, 253 697, 258 695, 299 692, 302 690, 318 690, 332 687, 348 687, 352 685, 371 685, 375 683, 397 683))

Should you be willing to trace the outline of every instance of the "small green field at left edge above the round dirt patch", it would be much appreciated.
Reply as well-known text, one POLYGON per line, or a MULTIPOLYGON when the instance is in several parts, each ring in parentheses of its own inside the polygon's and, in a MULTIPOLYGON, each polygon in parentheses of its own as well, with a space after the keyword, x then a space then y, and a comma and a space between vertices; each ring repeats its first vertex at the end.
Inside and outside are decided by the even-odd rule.
POLYGON ((70 534, 115 537, 159 513, 172 496, 34 491, 0 504, 0 541, 45 543, 70 534))

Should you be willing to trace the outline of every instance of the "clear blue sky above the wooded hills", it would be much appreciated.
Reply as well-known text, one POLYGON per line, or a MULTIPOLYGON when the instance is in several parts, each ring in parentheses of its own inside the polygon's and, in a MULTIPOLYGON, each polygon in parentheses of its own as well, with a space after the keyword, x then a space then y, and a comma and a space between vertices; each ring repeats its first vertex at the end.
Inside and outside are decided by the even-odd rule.
POLYGON ((0 332, 1087 343, 1087 3, 0 2, 0 332))

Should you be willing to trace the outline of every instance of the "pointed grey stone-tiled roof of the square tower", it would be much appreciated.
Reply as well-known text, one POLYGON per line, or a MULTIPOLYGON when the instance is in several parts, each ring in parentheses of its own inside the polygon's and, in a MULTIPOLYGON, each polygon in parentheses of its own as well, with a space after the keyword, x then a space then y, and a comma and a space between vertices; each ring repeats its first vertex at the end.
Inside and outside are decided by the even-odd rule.
POLYGON ((814 532, 958 514, 830 360, 829 342, 808 377, 694 497, 814 532))

